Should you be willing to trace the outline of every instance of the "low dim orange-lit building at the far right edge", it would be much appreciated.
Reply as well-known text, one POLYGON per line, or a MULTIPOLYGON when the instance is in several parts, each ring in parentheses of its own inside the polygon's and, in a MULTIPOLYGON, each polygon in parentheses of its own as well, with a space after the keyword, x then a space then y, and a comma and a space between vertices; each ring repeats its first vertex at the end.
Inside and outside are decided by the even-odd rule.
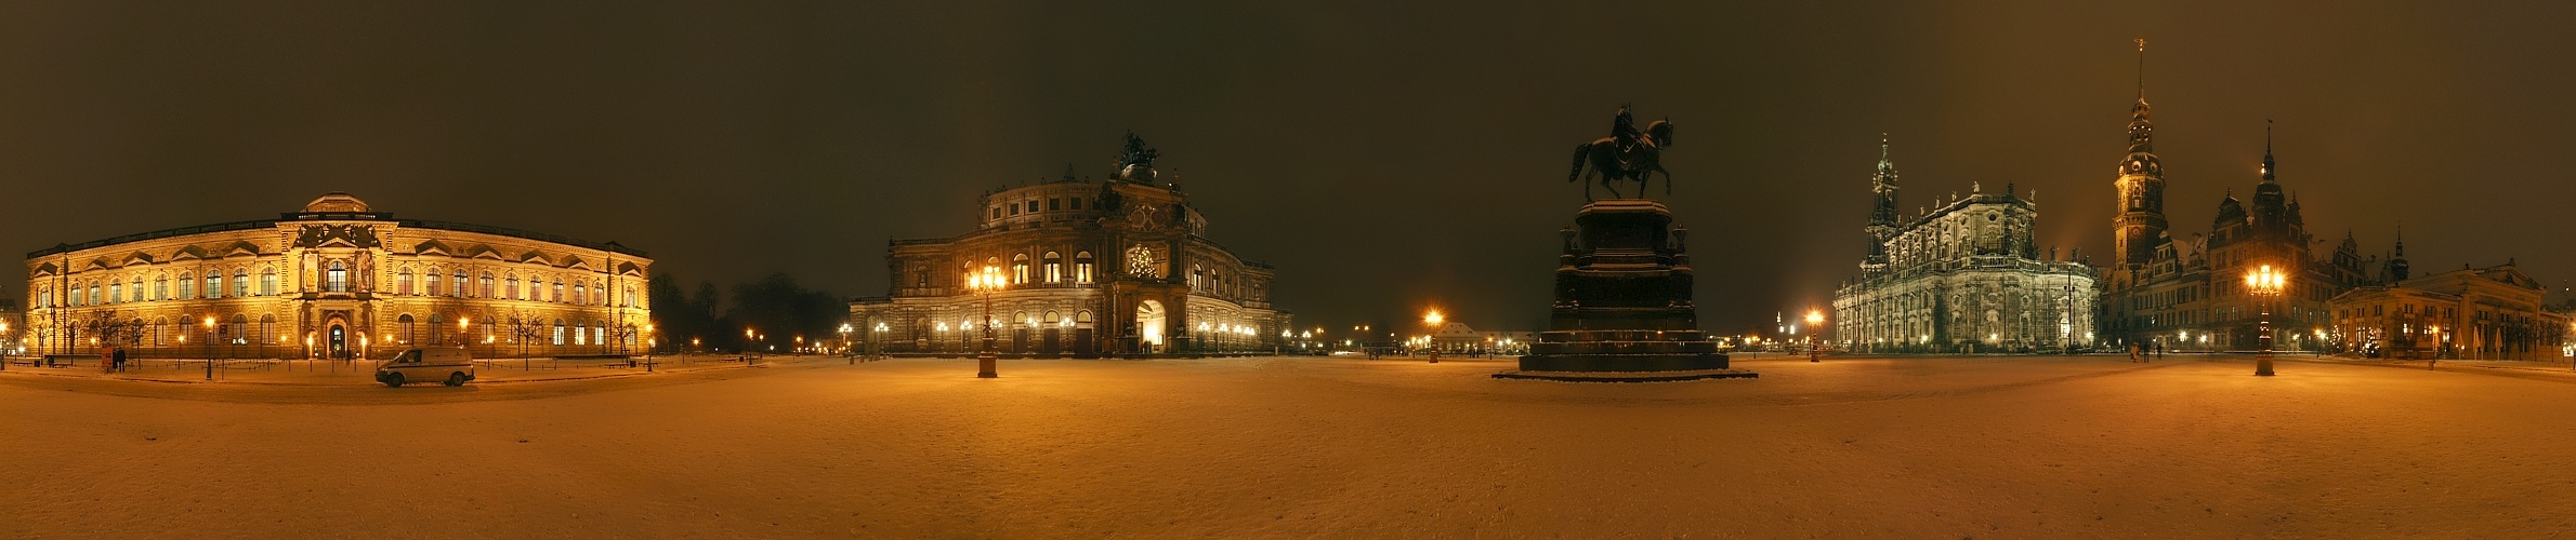
POLYGON ((2470 357, 2545 360, 2558 357, 2568 316, 2545 306, 2548 288, 2512 262, 2460 267, 2409 278, 2406 244, 2391 262, 2385 285, 2362 285, 2334 296, 2329 337, 2336 350, 2372 357, 2470 357))

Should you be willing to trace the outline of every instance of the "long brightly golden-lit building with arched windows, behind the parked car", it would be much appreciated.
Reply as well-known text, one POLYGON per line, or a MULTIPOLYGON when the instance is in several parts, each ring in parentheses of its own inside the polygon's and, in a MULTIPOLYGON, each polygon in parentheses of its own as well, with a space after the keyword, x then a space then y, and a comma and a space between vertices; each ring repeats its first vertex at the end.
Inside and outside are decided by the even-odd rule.
POLYGON ((616 355, 652 260, 616 242, 394 219, 348 193, 278 219, 36 249, 26 347, 147 357, 616 355))

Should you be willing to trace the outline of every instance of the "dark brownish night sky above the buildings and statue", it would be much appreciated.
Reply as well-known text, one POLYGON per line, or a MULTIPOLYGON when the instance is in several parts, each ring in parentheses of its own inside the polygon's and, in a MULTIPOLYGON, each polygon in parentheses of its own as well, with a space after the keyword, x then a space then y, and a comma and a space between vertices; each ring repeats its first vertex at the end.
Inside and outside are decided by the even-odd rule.
MULTIPOLYGON (((2146 95, 2177 237, 2280 183, 2331 249, 2563 285, 2571 3, 8 3, 5 249, 379 211, 649 249, 657 270, 886 288, 889 237, 976 193, 1162 149, 1280 309, 1546 319, 1574 144, 1620 103, 1664 165, 1710 332, 1855 275, 1878 139, 1904 208, 2038 190, 2040 244, 2107 262, 2146 95)), ((1662 188, 1662 185, 1656 185, 1662 188)), ((23 267, 0 296, 23 298, 23 267)))

